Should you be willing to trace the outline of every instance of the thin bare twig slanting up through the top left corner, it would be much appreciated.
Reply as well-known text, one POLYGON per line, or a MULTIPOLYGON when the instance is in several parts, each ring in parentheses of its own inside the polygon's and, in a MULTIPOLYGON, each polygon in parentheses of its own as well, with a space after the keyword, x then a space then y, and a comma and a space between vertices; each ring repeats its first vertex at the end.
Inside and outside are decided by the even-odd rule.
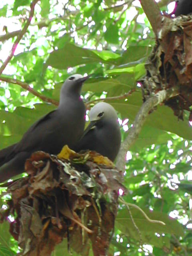
POLYGON ((27 31, 27 28, 32 20, 32 17, 34 15, 34 8, 35 8, 35 5, 36 3, 38 2, 38 0, 34 0, 31 5, 30 5, 30 14, 29 14, 29 18, 27 19, 26 21, 26 24, 24 26, 24 28, 22 29, 22 31, 20 32, 20 34, 18 34, 18 37, 16 38, 13 46, 12 46, 12 49, 11 49, 11 52, 9 54, 9 56, 6 58, 6 60, 4 61, 4 63, 2 64, 1 68, 0 68, 0 75, 2 74, 3 70, 6 68, 7 64, 10 62, 10 60, 12 59, 13 55, 14 55, 14 52, 16 50, 16 47, 18 46, 18 43, 20 42, 21 38, 23 37, 23 35, 25 34, 25 32, 27 31))

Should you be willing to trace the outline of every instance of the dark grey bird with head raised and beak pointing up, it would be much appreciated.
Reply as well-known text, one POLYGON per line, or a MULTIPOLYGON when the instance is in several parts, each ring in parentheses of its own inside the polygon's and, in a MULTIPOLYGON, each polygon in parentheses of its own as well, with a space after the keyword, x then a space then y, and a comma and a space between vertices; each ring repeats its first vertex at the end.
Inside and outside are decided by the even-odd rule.
POLYGON ((0 150, 0 182, 24 172, 32 152, 58 154, 65 144, 74 147, 84 131, 86 110, 80 92, 88 77, 70 76, 62 85, 58 108, 35 122, 20 142, 0 150))

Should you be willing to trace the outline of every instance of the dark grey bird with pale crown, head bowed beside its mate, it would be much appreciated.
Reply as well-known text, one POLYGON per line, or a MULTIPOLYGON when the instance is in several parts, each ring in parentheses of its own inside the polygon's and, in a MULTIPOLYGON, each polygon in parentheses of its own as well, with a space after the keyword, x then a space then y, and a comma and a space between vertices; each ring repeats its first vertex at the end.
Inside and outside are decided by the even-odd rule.
POLYGON ((74 150, 93 150, 114 161, 121 144, 116 111, 110 104, 100 102, 90 110, 89 118, 90 124, 74 150))

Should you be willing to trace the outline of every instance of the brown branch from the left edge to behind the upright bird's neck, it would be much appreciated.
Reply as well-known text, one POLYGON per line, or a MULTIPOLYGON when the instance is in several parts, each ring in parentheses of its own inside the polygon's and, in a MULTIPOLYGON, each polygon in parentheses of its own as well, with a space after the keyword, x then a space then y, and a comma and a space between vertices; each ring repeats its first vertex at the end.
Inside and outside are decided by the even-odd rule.
POLYGON ((6 77, 2 77, 0 76, 0 80, 7 82, 7 83, 12 83, 12 84, 18 84, 20 85, 22 88, 24 88, 25 90, 29 91, 30 93, 32 93, 33 95, 37 96, 38 98, 40 98, 41 100, 43 100, 44 102, 49 102, 52 103, 56 106, 59 105, 59 102, 57 100, 53 100, 51 98, 47 98, 46 96, 43 96, 42 94, 40 94, 39 92, 37 92, 36 90, 32 89, 27 83, 25 82, 21 82, 20 80, 17 79, 12 79, 12 78, 6 78, 6 77))

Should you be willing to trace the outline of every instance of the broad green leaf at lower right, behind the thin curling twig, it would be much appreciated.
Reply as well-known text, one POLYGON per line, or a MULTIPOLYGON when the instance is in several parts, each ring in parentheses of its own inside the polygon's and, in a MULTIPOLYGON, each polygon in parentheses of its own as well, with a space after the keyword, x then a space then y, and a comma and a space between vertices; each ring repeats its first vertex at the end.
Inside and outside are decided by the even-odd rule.
MULTIPOLYGON (((167 236, 162 236, 161 234, 183 235, 182 225, 176 220, 168 217, 166 214, 146 209, 144 210, 150 219, 160 220, 166 224, 162 225, 149 222, 138 209, 133 208, 132 206, 129 206, 129 208, 132 218, 140 231, 143 243, 150 243, 160 248, 163 246, 169 248, 169 238, 167 236), (156 233, 160 234, 160 236, 156 236, 156 233)), ((140 235, 132 222, 128 209, 124 208, 118 212, 116 217, 116 228, 129 238, 134 238, 140 241, 140 235)))

